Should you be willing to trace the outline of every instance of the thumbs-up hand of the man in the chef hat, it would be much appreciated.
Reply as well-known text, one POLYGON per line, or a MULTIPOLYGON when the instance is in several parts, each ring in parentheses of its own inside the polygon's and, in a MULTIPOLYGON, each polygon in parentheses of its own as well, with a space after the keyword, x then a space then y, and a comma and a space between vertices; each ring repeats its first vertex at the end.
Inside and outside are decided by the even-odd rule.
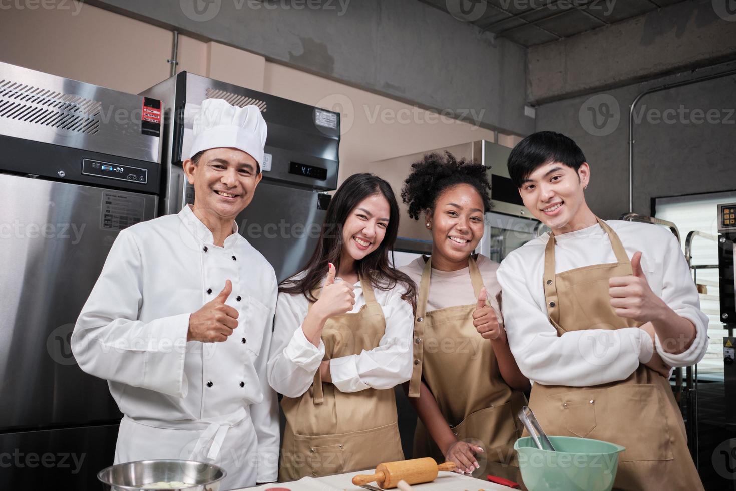
POLYGON ((187 341, 223 342, 233 333, 238 327, 238 311, 225 305, 232 292, 233 283, 225 281, 222 292, 189 316, 187 341))

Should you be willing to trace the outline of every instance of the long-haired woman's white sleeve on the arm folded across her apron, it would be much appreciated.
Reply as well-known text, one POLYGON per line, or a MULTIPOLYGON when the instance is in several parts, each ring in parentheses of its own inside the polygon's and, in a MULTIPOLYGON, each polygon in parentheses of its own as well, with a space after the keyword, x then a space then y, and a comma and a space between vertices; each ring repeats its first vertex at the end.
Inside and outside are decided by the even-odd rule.
POLYGON ((386 331, 378 346, 358 355, 330 360, 332 383, 341 392, 391 389, 411 378, 414 313, 411 304, 397 290, 387 295, 385 305, 381 305, 386 331))

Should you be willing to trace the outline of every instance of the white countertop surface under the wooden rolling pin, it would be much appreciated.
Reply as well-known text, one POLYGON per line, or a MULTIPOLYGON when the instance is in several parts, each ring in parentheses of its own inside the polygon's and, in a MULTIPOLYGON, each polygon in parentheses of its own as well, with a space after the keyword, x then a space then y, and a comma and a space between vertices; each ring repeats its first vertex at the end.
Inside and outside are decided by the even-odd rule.
MULTIPOLYGON (((373 470, 361 470, 356 473, 337 474, 336 476, 327 476, 322 478, 305 477, 299 481, 291 481, 285 483, 264 484, 258 487, 249 487, 249 491, 269 490, 271 488, 283 488, 291 491, 362 491, 362 490, 378 490, 381 488, 375 485, 375 482, 365 487, 353 486, 353 476, 358 474, 372 474, 373 470)), ((488 481, 472 478, 470 476, 461 476, 456 473, 439 473, 434 482, 427 484, 414 484, 411 489, 417 491, 509 491, 510 488, 492 484, 488 481)), ((244 491, 244 490, 238 490, 244 491)))

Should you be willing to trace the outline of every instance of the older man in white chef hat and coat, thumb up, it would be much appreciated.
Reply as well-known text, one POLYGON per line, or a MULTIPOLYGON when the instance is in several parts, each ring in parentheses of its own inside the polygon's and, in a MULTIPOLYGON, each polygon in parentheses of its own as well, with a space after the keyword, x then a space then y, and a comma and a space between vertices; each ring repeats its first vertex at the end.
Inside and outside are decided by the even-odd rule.
POLYGON ((118 235, 79 314, 79 367, 124 414, 115 462, 194 459, 224 489, 277 479, 277 399, 266 378, 277 282, 234 219, 261 181, 266 121, 208 99, 184 161, 194 206, 118 235))

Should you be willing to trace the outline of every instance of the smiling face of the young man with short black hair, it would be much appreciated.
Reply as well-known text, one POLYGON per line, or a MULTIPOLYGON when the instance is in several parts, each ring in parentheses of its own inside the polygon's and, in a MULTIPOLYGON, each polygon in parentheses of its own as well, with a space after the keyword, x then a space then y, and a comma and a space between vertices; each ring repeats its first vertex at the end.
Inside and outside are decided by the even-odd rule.
POLYGON ((587 163, 578 172, 564 163, 545 163, 523 180, 519 193, 534 218, 559 235, 591 225, 593 215, 583 194, 589 180, 587 163))

